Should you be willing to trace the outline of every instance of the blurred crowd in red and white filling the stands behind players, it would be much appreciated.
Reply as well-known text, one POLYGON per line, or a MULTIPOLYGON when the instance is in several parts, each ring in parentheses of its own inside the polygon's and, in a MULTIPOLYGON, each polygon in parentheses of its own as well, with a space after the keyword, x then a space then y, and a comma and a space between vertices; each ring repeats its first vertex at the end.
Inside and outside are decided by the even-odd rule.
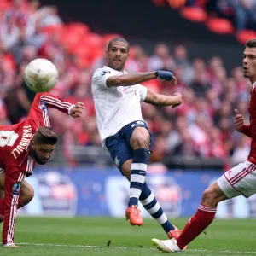
MULTIPOLYGON (((3 2, 6 6, 0 8, 0 125, 26 119, 34 96, 22 79, 26 64, 37 57, 53 61, 60 79, 52 93, 72 103, 84 102, 86 106, 81 119, 49 110, 51 124, 62 139, 63 155, 75 165, 73 145, 84 146, 84 150, 88 146, 101 147, 90 79, 95 69, 105 64, 104 50, 109 37, 88 32, 84 44, 94 47, 81 44, 74 48, 72 40, 78 33, 69 38, 62 33, 60 37, 55 29, 64 25, 55 7, 40 7, 38 0, 3 2), (51 29, 54 32, 49 32, 51 29), (69 44, 65 44, 66 39, 69 44)), ((143 103, 143 117, 152 131, 152 161, 172 155, 246 160, 250 139, 234 131, 233 125, 235 108, 248 119, 250 84, 241 67, 235 67, 229 76, 219 56, 207 62, 189 60, 188 49, 183 45, 171 49, 166 44, 157 44, 152 55, 142 45, 131 45, 125 69, 130 73, 171 70, 177 77, 177 87, 156 79, 144 85, 156 93, 183 94, 183 104, 178 108, 143 103)))

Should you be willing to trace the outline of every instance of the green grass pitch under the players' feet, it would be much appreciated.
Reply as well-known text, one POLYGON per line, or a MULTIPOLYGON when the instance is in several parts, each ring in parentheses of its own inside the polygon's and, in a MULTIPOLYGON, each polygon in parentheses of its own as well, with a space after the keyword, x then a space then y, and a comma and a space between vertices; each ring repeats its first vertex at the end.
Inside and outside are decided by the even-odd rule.
MULTIPOLYGON (((175 219, 183 227, 187 219, 175 219)), ((2 228, 3 224, 0 224, 2 228)), ((215 220, 207 230, 177 255, 256 255, 256 219, 215 220)), ((132 227, 114 218, 17 218, 15 241, 20 248, 0 247, 0 255, 162 255, 152 238, 167 239, 151 219, 132 227)))

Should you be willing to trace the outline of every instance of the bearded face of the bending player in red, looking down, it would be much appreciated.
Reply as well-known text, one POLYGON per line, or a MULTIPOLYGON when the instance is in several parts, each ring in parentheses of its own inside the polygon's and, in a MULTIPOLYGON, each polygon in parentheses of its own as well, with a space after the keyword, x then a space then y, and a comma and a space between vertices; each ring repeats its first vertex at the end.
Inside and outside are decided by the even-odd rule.
POLYGON ((55 145, 33 143, 30 153, 38 165, 45 165, 54 150, 55 145))

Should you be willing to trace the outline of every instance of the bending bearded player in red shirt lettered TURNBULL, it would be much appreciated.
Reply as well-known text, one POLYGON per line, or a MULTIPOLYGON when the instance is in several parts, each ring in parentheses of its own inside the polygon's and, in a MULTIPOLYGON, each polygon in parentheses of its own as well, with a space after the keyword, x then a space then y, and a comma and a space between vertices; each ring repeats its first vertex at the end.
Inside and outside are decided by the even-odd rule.
MULTIPOLYGON (((6 247, 16 247, 15 219, 17 208, 24 205, 20 197, 24 179, 32 175, 36 162, 44 165, 55 149, 57 137, 49 128, 48 107, 77 118, 82 114, 84 103, 72 105, 49 93, 38 93, 25 121, 0 126, 0 169, 5 174, 0 176, 4 177, 0 184, 4 186, 5 195, 0 201, 0 215, 4 216, 3 245, 6 247)), ((26 188, 23 190, 26 194, 26 188)))

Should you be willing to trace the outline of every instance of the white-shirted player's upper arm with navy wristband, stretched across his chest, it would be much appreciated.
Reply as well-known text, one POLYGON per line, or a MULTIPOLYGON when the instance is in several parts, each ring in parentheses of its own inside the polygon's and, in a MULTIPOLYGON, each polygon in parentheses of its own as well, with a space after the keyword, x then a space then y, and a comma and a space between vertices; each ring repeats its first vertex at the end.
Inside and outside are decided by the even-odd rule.
POLYGON ((162 81, 170 81, 172 85, 177 84, 177 80, 172 72, 168 71, 153 71, 145 73, 126 73, 120 76, 110 76, 106 80, 108 87, 130 86, 140 84, 151 79, 160 79, 162 81))

